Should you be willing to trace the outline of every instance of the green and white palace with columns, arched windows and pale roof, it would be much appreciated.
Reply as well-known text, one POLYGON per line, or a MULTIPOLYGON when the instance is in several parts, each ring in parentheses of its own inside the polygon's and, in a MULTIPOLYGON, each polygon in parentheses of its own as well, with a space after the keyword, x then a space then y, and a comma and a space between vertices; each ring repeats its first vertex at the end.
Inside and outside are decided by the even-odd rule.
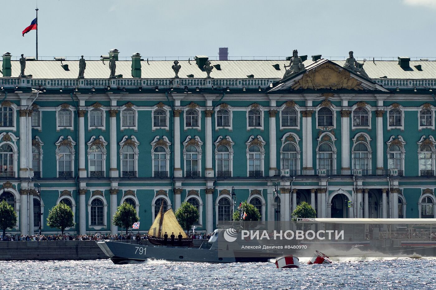
POLYGON ((290 72, 289 60, 118 54, 114 75, 103 56, 83 78, 78 60, 27 59, 20 75, 3 54, 0 199, 18 215, 11 233, 40 222, 57 232, 46 219, 60 202, 77 234, 121 232, 111 221, 124 201, 141 232, 162 203, 183 201, 198 207, 201 232, 245 200, 265 221, 289 221, 302 201, 320 218, 434 217, 436 61, 366 61, 359 73, 302 56, 290 72))

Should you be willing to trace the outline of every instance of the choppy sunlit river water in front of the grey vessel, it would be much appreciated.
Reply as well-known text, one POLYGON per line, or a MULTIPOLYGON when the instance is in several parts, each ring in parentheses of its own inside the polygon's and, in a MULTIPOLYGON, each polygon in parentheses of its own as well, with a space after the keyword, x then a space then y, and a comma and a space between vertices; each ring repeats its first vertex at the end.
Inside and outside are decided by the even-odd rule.
POLYGON ((436 289, 436 259, 341 258, 276 269, 273 263, 114 265, 94 261, 1 261, 0 289, 436 289))

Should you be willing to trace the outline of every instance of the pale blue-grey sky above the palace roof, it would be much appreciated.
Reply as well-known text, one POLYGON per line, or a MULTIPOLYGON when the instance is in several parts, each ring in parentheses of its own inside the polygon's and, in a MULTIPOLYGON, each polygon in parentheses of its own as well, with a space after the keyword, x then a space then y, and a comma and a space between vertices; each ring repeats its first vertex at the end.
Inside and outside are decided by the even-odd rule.
MULTIPOLYGON (((36 0, 0 0, 0 52, 35 56, 36 0), (18 4, 19 3, 19 4, 18 4), (4 10, 7 10, 5 13, 4 10)), ((39 0, 38 55, 436 57, 436 0, 39 0)), ((50 58, 49 58, 50 57, 50 58)), ((271 58, 269 58, 271 59, 271 58)), ((337 58, 336 58, 337 59, 337 58)))

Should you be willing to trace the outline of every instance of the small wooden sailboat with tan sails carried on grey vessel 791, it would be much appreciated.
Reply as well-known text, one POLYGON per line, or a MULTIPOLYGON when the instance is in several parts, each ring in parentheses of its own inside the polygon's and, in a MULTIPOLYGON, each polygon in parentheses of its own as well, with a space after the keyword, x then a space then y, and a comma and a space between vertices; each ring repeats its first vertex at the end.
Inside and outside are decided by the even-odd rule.
MULTIPOLYGON (((168 237, 172 232, 174 232, 174 235, 176 236, 174 245, 176 246, 188 247, 192 244, 192 238, 187 236, 179 222, 177 222, 177 218, 174 215, 173 209, 169 208, 164 212, 164 207, 162 204, 160 206, 159 213, 148 230, 148 241, 153 245, 163 246, 165 232, 167 232, 168 237), (177 239, 179 232, 182 235, 181 243, 177 239)), ((168 240, 168 244, 170 244, 170 240, 168 240)))

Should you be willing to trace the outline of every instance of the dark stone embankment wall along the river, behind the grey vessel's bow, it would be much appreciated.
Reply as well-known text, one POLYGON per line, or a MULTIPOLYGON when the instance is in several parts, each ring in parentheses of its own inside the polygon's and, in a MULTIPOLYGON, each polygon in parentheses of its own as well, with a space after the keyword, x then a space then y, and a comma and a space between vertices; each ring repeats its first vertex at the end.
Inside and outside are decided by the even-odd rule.
MULTIPOLYGON (((200 246, 201 242, 204 241, 207 240, 194 240, 194 246, 200 246)), ((136 244, 135 240, 131 242, 136 244)), ((150 245, 148 241, 144 240, 140 243, 150 245)), ((94 260, 108 258, 95 241, 0 242, 0 260, 94 260)))

